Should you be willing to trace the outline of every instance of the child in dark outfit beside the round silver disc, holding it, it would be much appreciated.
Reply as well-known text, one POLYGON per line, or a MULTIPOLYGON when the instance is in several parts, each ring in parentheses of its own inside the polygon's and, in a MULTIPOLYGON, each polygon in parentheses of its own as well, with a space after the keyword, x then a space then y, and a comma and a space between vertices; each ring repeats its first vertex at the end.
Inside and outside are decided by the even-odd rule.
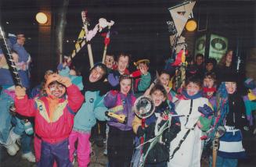
MULTIPOLYGON (((160 84, 156 84, 150 91, 150 96, 155 105, 154 114, 145 120, 145 128, 142 127, 142 120, 135 117, 132 123, 133 130, 137 136, 145 137, 145 142, 155 137, 155 129, 160 129, 168 121, 169 115, 176 115, 174 104, 167 100, 167 92, 160 84)), ((144 166, 158 166, 165 167, 169 160, 170 142, 180 131, 180 123, 178 117, 171 118, 171 127, 164 130, 162 138, 155 144, 146 157, 146 165, 144 166)), ((146 154, 150 147, 150 143, 145 144, 142 148, 143 154, 146 154)))

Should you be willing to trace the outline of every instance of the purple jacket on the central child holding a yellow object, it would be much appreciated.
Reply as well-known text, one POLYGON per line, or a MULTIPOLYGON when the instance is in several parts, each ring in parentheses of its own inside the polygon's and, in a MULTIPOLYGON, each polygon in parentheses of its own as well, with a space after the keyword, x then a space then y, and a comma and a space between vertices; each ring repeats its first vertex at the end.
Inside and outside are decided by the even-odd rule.
POLYGON ((135 117, 135 113, 132 112, 132 106, 135 103, 135 96, 133 94, 124 95, 121 94, 119 91, 110 91, 108 94, 106 94, 106 97, 104 98, 104 105, 106 108, 114 108, 117 106, 121 106, 121 110, 117 110, 114 113, 115 114, 123 114, 127 117, 128 121, 127 123, 118 123, 116 119, 110 119, 108 121, 108 124, 110 126, 117 127, 119 130, 132 130, 132 121, 135 117))

